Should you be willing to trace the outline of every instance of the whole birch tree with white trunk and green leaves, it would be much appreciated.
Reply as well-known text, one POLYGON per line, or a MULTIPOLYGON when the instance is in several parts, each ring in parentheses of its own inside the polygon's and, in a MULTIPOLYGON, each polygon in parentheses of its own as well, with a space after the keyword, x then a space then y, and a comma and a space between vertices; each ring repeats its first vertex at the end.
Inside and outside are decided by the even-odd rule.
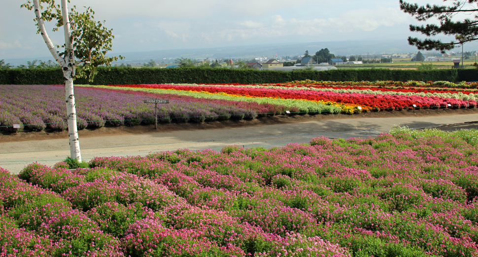
POLYGON ((76 6, 68 9, 69 2, 69 0, 61 0, 61 4, 56 4, 55 0, 28 0, 21 7, 34 11, 37 34, 41 34, 51 55, 62 68, 70 158, 81 162, 73 80, 88 78, 92 81, 98 73, 96 69, 98 66, 110 66, 113 60, 123 57, 106 57, 107 51, 111 50, 114 38, 112 29, 106 29, 103 26, 104 21, 95 21, 95 12, 90 7, 87 7, 85 12, 79 13, 75 10, 76 6), (53 44, 45 28, 45 22, 54 23, 53 31, 59 31, 63 27, 64 45, 53 44))

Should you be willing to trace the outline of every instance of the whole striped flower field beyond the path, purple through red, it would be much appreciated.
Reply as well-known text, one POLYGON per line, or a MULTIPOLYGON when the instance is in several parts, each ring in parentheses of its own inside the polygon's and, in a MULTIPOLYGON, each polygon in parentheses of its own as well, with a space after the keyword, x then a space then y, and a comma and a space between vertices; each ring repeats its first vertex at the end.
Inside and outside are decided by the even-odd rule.
MULTIPOLYGON (((477 83, 314 82, 273 85, 76 86, 78 129, 154 124, 154 105, 170 99, 158 121, 254 119, 275 114, 357 114, 416 109, 475 108, 477 83)), ((63 86, 0 86, 0 131, 67 129, 63 86), (14 124, 20 129, 13 128, 14 124)))

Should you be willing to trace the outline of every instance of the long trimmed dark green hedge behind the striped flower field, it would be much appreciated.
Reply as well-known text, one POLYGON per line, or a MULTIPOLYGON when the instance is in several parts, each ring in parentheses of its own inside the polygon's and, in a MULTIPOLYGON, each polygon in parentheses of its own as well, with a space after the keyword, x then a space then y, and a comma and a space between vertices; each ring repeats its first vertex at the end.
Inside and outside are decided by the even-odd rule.
MULTIPOLYGON (((100 67, 94 85, 161 84, 161 83, 284 83, 296 80, 315 81, 478 81, 475 69, 440 69, 430 71, 390 69, 339 69, 328 71, 269 71, 225 68, 120 68, 100 67)), ((0 70, 2 85, 63 84, 61 69, 0 70)), ((89 84, 85 79, 75 84, 89 84)))

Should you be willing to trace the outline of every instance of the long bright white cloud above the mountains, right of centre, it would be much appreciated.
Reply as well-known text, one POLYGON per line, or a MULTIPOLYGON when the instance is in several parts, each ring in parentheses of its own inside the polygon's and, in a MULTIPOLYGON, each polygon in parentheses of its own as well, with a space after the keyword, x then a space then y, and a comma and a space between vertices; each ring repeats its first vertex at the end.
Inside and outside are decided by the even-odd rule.
POLYGON ((277 37, 301 37, 313 41, 324 37, 338 39, 338 33, 343 32, 373 31, 401 23, 408 25, 408 21, 407 15, 398 7, 351 10, 328 19, 284 19, 282 15, 275 14, 264 22, 247 20, 236 24, 228 23, 220 29, 206 29, 198 37, 207 43, 251 39, 264 41, 277 37))

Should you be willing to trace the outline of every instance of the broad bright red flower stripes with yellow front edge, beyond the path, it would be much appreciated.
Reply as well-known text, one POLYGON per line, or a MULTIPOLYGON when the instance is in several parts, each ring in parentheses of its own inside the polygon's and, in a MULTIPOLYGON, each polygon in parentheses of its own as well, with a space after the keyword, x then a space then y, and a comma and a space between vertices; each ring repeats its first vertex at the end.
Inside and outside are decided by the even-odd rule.
MULTIPOLYGON (((374 87, 331 87, 331 86, 283 86, 283 85, 111 85, 114 87, 149 88, 152 92, 163 92, 161 89, 174 91, 201 92, 213 95, 233 97, 249 97, 256 99, 270 98, 276 103, 293 106, 288 100, 299 100, 326 104, 328 106, 344 107, 343 113, 357 113, 362 110, 403 110, 409 108, 468 108, 477 105, 477 91, 446 92, 444 90, 423 89, 376 89, 374 87), (154 90, 159 89, 159 90, 154 90), (415 105, 415 106, 413 106, 415 105), (348 108, 347 108, 348 107, 348 108), (351 109, 351 110, 350 110, 351 109)), ((307 111, 300 105, 294 106, 301 111, 307 111)))

